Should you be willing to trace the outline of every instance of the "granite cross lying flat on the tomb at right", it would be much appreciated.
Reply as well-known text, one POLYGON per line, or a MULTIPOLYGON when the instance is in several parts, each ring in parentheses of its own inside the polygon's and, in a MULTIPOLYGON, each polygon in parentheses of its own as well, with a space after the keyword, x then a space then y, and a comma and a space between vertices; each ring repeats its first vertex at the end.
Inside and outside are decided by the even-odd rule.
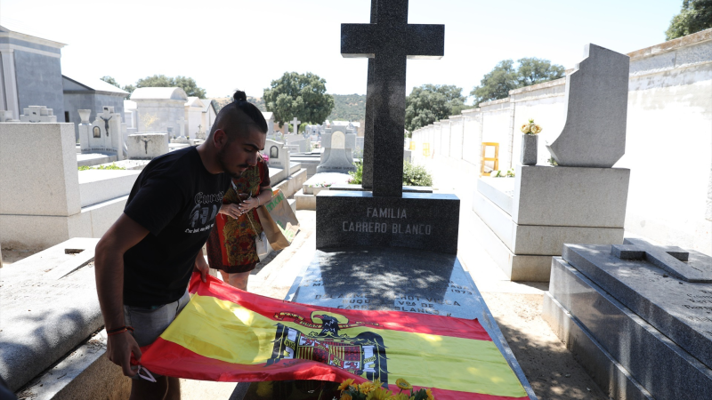
POLYGON ((611 254, 620 260, 646 260, 671 276, 694 283, 712 283, 712 269, 694 268, 684 262, 690 257, 676 246, 654 246, 640 239, 626 239, 625 244, 613 244, 611 254))

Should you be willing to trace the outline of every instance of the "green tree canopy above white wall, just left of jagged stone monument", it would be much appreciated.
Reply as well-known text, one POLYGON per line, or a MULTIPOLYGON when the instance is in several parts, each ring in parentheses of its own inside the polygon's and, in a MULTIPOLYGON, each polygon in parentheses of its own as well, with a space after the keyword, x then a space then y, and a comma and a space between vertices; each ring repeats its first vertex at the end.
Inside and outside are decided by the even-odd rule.
POLYGON ((499 61, 495 68, 485 74, 480 85, 470 92, 470 95, 474 96, 474 103, 504 99, 509 96, 509 91, 514 89, 564 76, 565 69, 549 60, 530 57, 517 60, 517 64, 518 67, 514 68, 513 60, 499 61))

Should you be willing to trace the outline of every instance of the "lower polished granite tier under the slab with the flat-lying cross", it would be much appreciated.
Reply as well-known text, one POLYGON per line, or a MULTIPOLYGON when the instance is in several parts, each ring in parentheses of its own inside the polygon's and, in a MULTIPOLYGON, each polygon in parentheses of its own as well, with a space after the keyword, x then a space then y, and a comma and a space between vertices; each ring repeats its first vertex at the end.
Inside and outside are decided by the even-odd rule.
POLYGON ((560 257, 552 260, 549 293, 651 396, 703 399, 712 393, 708 366, 560 257))

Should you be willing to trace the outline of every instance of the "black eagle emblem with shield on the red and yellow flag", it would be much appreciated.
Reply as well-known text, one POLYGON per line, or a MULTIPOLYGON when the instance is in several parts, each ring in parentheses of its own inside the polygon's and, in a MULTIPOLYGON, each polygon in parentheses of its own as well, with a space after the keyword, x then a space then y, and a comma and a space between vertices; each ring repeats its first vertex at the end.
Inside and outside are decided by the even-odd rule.
POLYGON ((275 315, 277 320, 285 318, 312 328, 312 331, 302 332, 278 323, 272 356, 265 366, 283 359, 312 360, 334 365, 371 381, 380 380, 388 384, 388 365, 381 335, 374 332, 360 332, 351 337, 345 333, 350 328, 378 324, 364 322, 350 324, 348 318, 324 311, 312 312, 309 320, 304 316, 288 312, 275 315))

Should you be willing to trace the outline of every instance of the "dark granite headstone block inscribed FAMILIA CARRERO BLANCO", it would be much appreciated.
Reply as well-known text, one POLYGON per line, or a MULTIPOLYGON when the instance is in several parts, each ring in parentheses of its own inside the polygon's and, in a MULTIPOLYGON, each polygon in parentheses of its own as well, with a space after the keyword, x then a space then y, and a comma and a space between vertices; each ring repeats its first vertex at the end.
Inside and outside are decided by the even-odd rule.
POLYGON ((455 195, 324 190, 317 199, 318 249, 396 246, 457 253, 460 200, 455 195))

